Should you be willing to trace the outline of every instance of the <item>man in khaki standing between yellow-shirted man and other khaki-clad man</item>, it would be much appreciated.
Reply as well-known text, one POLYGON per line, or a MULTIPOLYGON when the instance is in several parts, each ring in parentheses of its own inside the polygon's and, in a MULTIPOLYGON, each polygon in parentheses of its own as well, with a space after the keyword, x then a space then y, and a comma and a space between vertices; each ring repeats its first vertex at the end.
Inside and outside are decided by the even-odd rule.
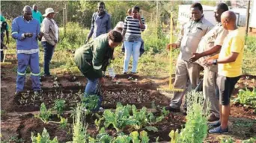
MULTIPOLYGON (((193 53, 192 57, 189 59, 190 62, 195 62, 203 66, 203 61, 213 56, 214 53, 220 51, 222 44, 224 42, 225 36, 227 36, 228 31, 222 27, 221 15, 225 11, 228 11, 228 5, 225 3, 220 3, 216 6, 214 10, 214 17, 218 22, 215 27, 208 32, 201 42, 199 43, 197 53, 193 53), (201 58, 202 57, 202 58, 201 58), (199 60, 198 60, 199 59, 199 60)), ((216 97, 216 79, 218 76, 218 66, 204 66, 204 80, 203 80, 203 94, 204 94, 204 108, 207 107, 207 101, 210 102, 210 116, 208 121, 218 121, 219 120, 219 101, 216 97)))

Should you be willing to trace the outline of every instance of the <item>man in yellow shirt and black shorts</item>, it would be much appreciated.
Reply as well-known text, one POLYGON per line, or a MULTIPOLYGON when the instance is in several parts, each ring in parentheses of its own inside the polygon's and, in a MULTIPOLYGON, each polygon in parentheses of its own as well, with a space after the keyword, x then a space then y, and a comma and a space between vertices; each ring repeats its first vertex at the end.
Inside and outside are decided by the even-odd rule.
POLYGON ((236 19, 237 16, 232 11, 222 13, 222 26, 229 31, 228 35, 220 53, 205 62, 207 66, 218 64, 219 69, 217 86, 219 88, 220 120, 210 124, 215 128, 209 130, 209 133, 228 133, 228 116, 231 112, 230 98, 234 86, 242 74, 245 32, 237 28, 236 19))

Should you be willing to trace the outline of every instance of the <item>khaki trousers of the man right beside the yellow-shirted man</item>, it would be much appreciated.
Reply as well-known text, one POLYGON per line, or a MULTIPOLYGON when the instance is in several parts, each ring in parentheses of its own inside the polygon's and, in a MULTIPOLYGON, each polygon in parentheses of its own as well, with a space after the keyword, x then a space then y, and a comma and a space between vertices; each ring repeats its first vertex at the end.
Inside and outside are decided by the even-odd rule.
POLYGON ((218 77, 218 66, 204 68, 203 94, 204 109, 210 104, 210 112, 219 118, 219 100, 216 96, 218 77))

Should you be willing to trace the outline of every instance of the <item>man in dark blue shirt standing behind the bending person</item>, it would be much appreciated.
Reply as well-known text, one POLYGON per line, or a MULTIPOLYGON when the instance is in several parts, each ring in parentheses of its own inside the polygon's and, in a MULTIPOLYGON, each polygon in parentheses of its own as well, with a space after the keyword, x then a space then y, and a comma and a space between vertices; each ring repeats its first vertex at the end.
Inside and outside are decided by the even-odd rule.
POLYGON ((104 2, 98 3, 98 11, 93 14, 91 19, 91 31, 85 42, 88 42, 91 36, 96 38, 101 34, 106 34, 111 30, 111 17, 105 11, 104 2))

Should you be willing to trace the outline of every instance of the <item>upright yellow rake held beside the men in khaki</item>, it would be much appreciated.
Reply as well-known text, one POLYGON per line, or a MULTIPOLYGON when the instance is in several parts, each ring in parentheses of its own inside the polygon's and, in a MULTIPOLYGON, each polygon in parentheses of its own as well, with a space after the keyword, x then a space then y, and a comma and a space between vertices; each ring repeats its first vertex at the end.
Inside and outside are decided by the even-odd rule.
MULTIPOLYGON (((170 43, 173 43, 173 18, 172 18, 172 10, 171 10, 171 22, 170 22, 170 43)), ((183 92, 184 89, 175 89, 174 85, 171 83, 172 77, 172 71, 173 71, 173 67, 172 67, 172 47, 170 47, 170 73, 169 73, 169 86, 168 89, 157 89, 158 91, 162 91, 162 92, 183 92)))

